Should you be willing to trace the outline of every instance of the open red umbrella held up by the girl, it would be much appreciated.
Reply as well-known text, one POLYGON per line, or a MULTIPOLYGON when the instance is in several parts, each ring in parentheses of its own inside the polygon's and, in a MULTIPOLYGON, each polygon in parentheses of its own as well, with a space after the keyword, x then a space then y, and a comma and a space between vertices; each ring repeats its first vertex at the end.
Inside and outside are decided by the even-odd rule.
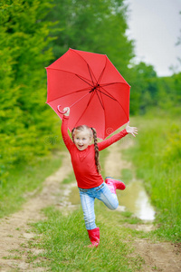
POLYGON ((129 121, 129 83, 105 54, 69 49, 46 68, 47 103, 60 118, 70 107, 69 129, 86 124, 105 139, 129 121))

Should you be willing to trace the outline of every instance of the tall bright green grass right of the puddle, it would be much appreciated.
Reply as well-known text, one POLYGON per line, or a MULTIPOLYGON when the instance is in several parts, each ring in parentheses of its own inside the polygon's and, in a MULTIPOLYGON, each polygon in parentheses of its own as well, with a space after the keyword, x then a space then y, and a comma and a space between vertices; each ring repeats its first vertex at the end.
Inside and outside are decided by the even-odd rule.
POLYGON ((180 120, 137 117, 136 145, 125 151, 144 181, 157 209, 155 233, 173 242, 181 241, 181 133, 180 120))

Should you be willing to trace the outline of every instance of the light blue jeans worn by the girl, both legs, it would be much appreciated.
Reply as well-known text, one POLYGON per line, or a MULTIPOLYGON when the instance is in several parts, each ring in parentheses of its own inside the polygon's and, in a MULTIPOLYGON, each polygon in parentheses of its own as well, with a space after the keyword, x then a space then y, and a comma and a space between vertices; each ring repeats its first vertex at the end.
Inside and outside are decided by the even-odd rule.
POLYGON ((100 199, 109 209, 117 209, 119 200, 116 194, 111 193, 108 185, 102 183, 100 186, 91 189, 81 189, 81 207, 87 229, 97 228, 95 224, 94 200, 100 199))

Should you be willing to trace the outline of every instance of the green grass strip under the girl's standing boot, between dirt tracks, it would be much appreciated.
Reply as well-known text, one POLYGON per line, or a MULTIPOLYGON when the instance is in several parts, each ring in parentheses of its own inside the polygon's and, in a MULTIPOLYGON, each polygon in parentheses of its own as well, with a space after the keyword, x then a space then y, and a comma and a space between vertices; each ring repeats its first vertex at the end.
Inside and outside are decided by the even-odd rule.
POLYGON ((90 240, 81 209, 68 217, 54 208, 45 209, 48 219, 33 225, 37 234, 41 235, 33 247, 45 249, 39 257, 38 266, 49 267, 48 271, 138 271, 143 260, 131 247, 130 231, 112 224, 111 219, 115 215, 100 205, 97 201, 99 248, 87 247, 90 240))

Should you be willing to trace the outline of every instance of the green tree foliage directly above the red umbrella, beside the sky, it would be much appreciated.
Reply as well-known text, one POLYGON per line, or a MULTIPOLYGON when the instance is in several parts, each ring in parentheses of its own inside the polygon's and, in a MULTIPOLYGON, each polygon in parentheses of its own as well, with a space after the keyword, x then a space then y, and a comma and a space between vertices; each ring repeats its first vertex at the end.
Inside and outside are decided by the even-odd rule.
POLYGON ((126 36, 127 7, 123 0, 54 0, 48 20, 57 22, 52 42, 55 58, 69 47, 106 53, 120 73, 126 73, 133 56, 132 41, 126 36), (57 27, 62 29, 60 34, 57 27))

